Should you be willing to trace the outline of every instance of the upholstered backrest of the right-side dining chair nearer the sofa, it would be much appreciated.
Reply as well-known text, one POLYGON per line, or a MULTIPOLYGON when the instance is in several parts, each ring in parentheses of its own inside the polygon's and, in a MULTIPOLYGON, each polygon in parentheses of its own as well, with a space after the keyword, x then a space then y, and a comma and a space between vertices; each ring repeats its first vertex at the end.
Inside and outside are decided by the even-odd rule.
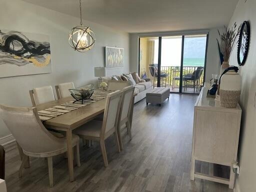
POLYGON ((128 119, 130 107, 131 107, 131 104, 133 104, 132 103, 133 92, 134 92, 133 86, 127 86, 122 89, 122 100, 121 100, 119 120, 118 120, 119 123, 122 123, 124 119, 128 119))

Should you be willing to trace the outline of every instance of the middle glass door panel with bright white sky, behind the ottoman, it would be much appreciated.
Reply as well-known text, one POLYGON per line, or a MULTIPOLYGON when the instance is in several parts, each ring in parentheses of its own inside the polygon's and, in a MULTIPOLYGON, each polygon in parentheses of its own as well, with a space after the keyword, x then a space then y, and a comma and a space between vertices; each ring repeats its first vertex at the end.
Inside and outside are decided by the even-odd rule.
POLYGON ((179 92, 182 36, 162 36, 161 85, 179 92))

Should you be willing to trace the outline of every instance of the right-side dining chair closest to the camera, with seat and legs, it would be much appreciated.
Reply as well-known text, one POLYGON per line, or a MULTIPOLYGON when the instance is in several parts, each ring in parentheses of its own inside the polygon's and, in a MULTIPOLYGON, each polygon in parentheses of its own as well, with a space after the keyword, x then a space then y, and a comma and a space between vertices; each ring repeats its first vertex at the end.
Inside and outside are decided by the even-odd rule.
POLYGON ((105 148, 105 139, 107 137, 114 134, 117 151, 120 152, 117 136, 117 121, 120 111, 121 97, 122 92, 120 90, 107 94, 103 120, 91 120, 73 130, 75 134, 83 139, 99 141, 105 166, 108 166, 105 148))

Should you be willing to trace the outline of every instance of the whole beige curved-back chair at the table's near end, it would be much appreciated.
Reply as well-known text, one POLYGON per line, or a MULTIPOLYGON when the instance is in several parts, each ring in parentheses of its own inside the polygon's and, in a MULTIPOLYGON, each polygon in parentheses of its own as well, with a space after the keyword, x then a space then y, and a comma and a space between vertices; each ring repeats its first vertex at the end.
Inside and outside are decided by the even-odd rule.
MULTIPOLYGON (((66 138, 57 132, 48 131, 42 124, 35 107, 10 107, 0 105, 0 117, 10 130, 22 152, 18 176, 27 163, 28 156, 48 160, 49 185, 53 186, 52 156, 67 151, 66 138)), ((79 137, 72 135, 72 146, 76 147, 76 164, 80 166, 79 137)))

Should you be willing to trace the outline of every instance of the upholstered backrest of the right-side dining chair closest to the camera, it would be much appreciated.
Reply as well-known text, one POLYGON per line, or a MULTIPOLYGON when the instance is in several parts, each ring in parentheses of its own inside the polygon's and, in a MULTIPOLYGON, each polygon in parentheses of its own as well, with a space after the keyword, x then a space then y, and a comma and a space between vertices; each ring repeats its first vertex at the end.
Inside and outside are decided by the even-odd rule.
POLYGON ((116 90, 111 92, 106 97, 105 111, 103 116, 101 136, 108 132, 110 129, 117 128, 118 115, 120 111, 122 92, 116 90))

